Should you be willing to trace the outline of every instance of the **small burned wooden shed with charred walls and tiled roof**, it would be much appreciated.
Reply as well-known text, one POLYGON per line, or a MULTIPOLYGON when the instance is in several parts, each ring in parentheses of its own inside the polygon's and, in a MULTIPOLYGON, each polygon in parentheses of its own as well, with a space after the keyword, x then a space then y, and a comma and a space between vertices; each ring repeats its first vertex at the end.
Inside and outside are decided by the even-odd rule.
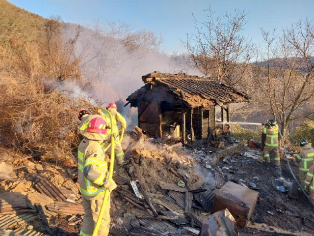
POLYGON ((142 80, 145 85, 127 98, 138 108, 138 126, 153 137, 171 135, 185 144, 224 134, 229 104, 250 99, 205 77, 155 71, 142 80))

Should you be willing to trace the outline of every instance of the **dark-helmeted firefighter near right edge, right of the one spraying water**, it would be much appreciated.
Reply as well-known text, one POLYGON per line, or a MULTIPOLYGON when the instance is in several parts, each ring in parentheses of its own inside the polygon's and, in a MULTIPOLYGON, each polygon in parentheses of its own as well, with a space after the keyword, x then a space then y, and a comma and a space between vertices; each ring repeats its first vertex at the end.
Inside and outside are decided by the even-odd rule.
POLYGON ((299 154, 295 156, 295 161, 299 163, 299 179, 300 183, 303 183, 310 169, 310 166, 314 164, 314 149, 306 140, 301 140, 300 147, 301 150, 299 154))

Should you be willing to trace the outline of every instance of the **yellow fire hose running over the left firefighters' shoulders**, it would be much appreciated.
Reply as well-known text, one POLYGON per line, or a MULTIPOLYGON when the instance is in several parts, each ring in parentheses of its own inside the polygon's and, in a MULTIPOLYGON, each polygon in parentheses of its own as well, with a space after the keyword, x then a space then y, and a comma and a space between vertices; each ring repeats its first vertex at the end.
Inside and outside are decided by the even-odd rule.
MULTIPOLYGON (((97 110, 102 110, 106 113, 109 114, 109 117, 110 117, 110 123, 111 123, 111 127, 113 127, 113 119, 112 119, 112 115, 110 112, 108 112, 107 110, 105 110, 104 108, 102 107, 99 107, 97 108, 97 110)), ((112 179, 112 175, 113 175, 113 167, 114 167, 114 137, 111 133, 111 149, 110 149, 110 168, 109 168, 109 180, 112 179)), ((103 220, 103 215, 105 213, 105 207, 106 207, 106 204, 107 204, 107 201, 108 201, 108 198, 109 198, 109 190, 105 190, 105 197, 104 197, 104 201, 103 201, 103 204, 102 204, 102 208, 99 212, 99 216, 98 216, 98 219, 97 219, 97 223, 95 225, 95 228, 94 228, 94 231, 93 231, 93 235, 92 236, 97 236, 98 234, 98 231, 99 231, 99 227, 102 223, 102 220, 103 220)))

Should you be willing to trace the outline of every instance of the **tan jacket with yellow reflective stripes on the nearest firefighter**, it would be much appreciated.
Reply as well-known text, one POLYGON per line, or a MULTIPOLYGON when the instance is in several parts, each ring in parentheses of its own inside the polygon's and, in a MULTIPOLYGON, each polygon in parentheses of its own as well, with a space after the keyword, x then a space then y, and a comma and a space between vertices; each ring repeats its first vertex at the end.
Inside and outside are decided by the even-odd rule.
POLYGON ((108 167, 100 141, 83 139, 78 146, 78 182, 85 199, 97 199, 105 191, 108 167))

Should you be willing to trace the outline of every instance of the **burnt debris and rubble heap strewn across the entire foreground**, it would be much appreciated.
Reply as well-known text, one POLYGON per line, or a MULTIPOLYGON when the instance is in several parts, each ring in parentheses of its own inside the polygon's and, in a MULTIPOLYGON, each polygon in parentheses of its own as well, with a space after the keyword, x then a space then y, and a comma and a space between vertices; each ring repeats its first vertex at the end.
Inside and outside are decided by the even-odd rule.
MULTIPOLYGON (((125 136, 123 147, 130 162, 113 177, 118 188, 111 198, 110 236, 313 232, 311 207, 285 163, 279 178, 273 166, 258 162, 259 150, 231 137, 193 149, 166 145, 136 129, 125 136), (287 191, 278 191, 284 183, 290 184, 287 191)), ((78 234, 83 209, 75 161, 52 163, 45 155, 35 161, 8 150, 0 161, 5 163, 0 163, 5 166, 0 169, 1 235, 78 234)))

